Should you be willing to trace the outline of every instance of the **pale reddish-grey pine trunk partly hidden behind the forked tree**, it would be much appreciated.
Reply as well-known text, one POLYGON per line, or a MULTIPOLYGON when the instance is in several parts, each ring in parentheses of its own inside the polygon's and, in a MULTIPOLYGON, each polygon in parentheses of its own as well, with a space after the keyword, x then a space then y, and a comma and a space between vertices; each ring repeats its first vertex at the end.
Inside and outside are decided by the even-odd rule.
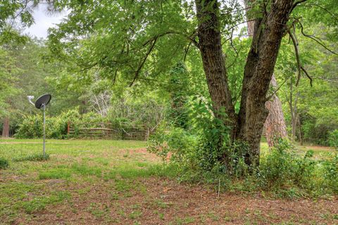
MULTIPOLYGON (((247 29, 249 37, 253 37, 253 32, 255 30, 255 23, 250 20, 251 18, 248 15, 249 7, 252 2, 253 0, 244 0, 247 13, 246 18, 248 20, 247 29)), ((272 86, 273 89, 277 89, 277 80, 275 79, 275 75, 271 77, 270 86, 272 86)), ((278 139, 287 138, 287 125, 284 120, 282 103, 280 102, 280 98, 278 98, 277 94, 273 94, 270 101, 265 103, 265 107, 269 110, 269 114, 264 123, 264 131, 269 147, 273 147, 278 139)))

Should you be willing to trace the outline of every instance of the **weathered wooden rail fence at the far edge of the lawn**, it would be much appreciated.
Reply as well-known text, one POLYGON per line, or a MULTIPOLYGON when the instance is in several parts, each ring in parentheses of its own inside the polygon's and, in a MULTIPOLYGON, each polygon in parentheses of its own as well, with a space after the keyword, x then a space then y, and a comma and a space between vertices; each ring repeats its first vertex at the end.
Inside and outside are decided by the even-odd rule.
POLYGON ((90 124, 90 127, 72 127, 68 122, 68 136, 81 139, 146 140, 149 131, 141 128, 123 129, 112 124, 90 124))

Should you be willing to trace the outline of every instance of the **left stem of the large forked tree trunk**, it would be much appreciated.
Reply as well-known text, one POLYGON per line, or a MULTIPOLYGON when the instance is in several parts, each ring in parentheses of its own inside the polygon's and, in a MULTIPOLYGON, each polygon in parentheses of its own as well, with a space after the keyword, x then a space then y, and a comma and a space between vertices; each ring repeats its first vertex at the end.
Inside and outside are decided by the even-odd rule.
POLYGON ((233 125, 235 121, 234 105, 227 82, 227 70, 223 58, 220 23, 218 18, 218 2, 214 0, 196 0, 197 19, 199 20, 198 35, 204 72, 208 91, 213 101, 216 117, 225 119, 220 111, 225 110, 233 125))

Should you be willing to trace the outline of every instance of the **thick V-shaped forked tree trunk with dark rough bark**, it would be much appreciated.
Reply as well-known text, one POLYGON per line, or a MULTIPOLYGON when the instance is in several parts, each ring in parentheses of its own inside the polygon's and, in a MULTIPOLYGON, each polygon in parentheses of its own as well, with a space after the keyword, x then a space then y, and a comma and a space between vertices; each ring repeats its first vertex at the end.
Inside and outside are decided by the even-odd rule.
POLYGON ((266 97, 293 4, 293 0, 274 1, 270 11, 265 12, 263 18, 256 20, 253 41, 244 69, 239 115, 236 115, 220 44, 218 1, 196 0, 199 48, 211 100, 216 112, 225 108, 229 119, 227 124, 230 124, 233 130, 233 141, 247 144, 245 162, 253 167, 259 165, 263 124, 268 116, 268 110, 265 108, 268 101, 266 97))

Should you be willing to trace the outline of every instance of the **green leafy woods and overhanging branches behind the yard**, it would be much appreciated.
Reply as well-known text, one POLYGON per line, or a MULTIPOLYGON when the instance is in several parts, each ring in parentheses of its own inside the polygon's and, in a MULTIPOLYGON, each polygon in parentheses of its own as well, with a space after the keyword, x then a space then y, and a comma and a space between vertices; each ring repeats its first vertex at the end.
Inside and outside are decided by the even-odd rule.
MULTIPOLYGON (((32 25, 30 9, 38 1, 27 6, 19 1, 13 1, 16 2, 13 5, 10 2, 4 4, 6 15, 2 18, 13 19, 15 11, 22 8, 22 14, 18 15, 20 23, 32 25)), ((54 10, 68 7, 70 13, 69 20, 51 29, 49 40, 46 41, 49 49, 44 46, 45 41, 36 39, 6 39, 2 42, 0 77, 6 82, 1 84, 0 114, 2 118, 11 115, 11 134, 18 130, 25 115, 39 114, 28 105, 25 96, 37 97, 44 92, 54 96, 49 115, 56 117, 77 106, 80 114, 94 112, 109 117, 108 120, 115 121, 115 124, 127 122, 149 131, 154 131, 164 117, 171 117, 170 124, 189 129, 188 98, 209 98, 199 52, 194 44, 189 44, 192 40, 187 38, 194 37, 190 36, 190 32, 196 25, 192 19, 192 3, 177 2, 159 6, 156 2, 142 1, 132 5, 129 2, 113 4, 104 1, 99 6, 94 2, 83 5, 73 1, 54 1, 53 4, 54 10), (156 10, 158 7, 160 10, 156 10), (153 10, 144 18, 140 8, 153 10), (125 18, 128 12, 132 17, 130 20, 125 18), (158 20, 162 23, 156 23, 158 20), (142 23, 146 23, 146 27, 142 27, 142 23), (122 32, 128 27, 132 27, 130 32, 122 32), (114 32, 107 32, 107 29, 113 29, 114 32), (73 39, 66 39, 67 35, 73 35, 73 39), (83 35, 87 35, 87 38, 83 39, 83 35), (155 50, 144 58, 144 53, 152 44, 155 50), (144 65, 139 68, 142 63, 144 65), (133 80, 134 77, 137 79, 133 80), (37 84, 36 80, 44 80, 45 83, 37 84), (127 88, 131 83, 132 88, 127 88), (13 96, 15 101, 8 101, 13 96), (154 117, 157 119, 152 120, 154 117)), ((223 13, 230 11, 230 8, 241 7, 232 1, 226 4, 229 8, 223 8, 223 13)), ((320 39, 320 43, 335 51, 336 8, 334 1, 308 1, 297 7, 293 16, 302 16, 300 20, 305 34, 313 34, 313 37, 320 39), (323 16, 318 18, 318 15, 323 16)), ((224 14, 222 20, 225 37, 232 39, 225 42, 223 49, 229 62, 227 72, 237 110, 251 41, 245 37, 244 29, 240 30, 236 26, 232 30, 227 28, 242 21, 242 13, 233 13, 232 18, 224 14)), ((3 37, 9 35, 4 23, 1 23, 1 29, 3 37)), ((278 94, 284 103, 289 134, 296 141, 333 145, 330 133, 338 128, 338 103, 337 98, 333 97, 337 96, 337 55, 313 39, 303 37, 301 27, 296 26, 295 29, 300 58, 313 79, 313 87, 306 77, 301 79, 299 86, 295 86, 297 66, 294 47, 285 39, 275 75, 282 84, 278 94), (292 134, 296 121, 292 120, 294 113, 299 118, 299 124, 296 124, 295 134, 292 134)), ((15 27, 10 30, 15 31, 15 27)), ((14 37, 14 34, 11 35, 14 37)), ((20 37, 20 32, 17 32, 17 37, 20 37)), ((58 132, 51 136, 63 138, 62 135, 58 132)), ((30 136, 37 134, 33 132, 30 136)))

